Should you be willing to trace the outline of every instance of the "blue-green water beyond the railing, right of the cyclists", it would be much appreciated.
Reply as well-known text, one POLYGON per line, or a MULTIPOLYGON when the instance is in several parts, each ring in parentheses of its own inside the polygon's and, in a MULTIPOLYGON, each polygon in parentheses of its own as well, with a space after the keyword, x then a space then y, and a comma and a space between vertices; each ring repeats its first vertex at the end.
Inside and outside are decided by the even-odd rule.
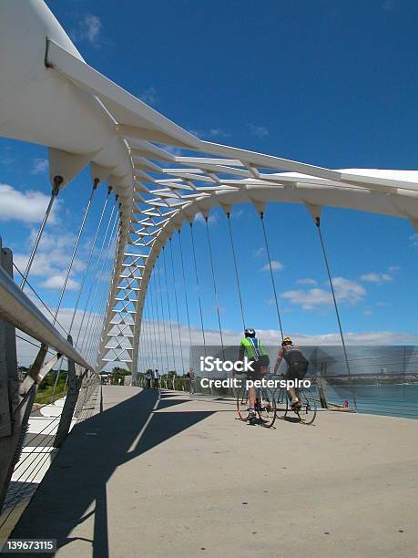
MULTIPOLYGON (((353 386, 359 413, 418 418, 418 384, 353 386)), ((327 399, 342 405, 347 398, 354 408, 350 386, 327 386, 327 399)))

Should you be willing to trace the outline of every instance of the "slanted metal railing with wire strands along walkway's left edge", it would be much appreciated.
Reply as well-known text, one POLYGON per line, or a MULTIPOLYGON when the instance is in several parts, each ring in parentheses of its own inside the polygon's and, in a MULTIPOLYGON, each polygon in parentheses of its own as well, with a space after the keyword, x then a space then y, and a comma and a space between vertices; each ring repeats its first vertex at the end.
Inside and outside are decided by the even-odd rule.
POLYGON ((13 492, 12 504, 3 513, 0 524, 12 513, 19 491, 23 493, 34 484, 37 473, 50 457, 51 449, 62 445, 72 421, 87 417, 91 411, 89 401, 97 394, 99 386, 97 372, 73 346, 71 336, 63 336, 15 284, 13 254, 2 247, 0 240, 0 511, 8 489, 13 492), (35 362, 25 377, 19 375, 17 369, 16 329, 24 334, 17 334, 19 339, 38 349, 35 362), (58 370, 54 393, 46 400, 39 398, 39 403, 34 406, 39 385, 52 374, 62 357, 67 359, 67 374, 60 395, 66 395, 66 398, 56 405, 56 416, 46 420, 46 428, 31 439, 32 449, 25 449, 29 420, 39 414, 40 408, 53 403, 60 393, 60 389, 56 389, 58 370), (35 451, 35 442, 42 450, 35 451))

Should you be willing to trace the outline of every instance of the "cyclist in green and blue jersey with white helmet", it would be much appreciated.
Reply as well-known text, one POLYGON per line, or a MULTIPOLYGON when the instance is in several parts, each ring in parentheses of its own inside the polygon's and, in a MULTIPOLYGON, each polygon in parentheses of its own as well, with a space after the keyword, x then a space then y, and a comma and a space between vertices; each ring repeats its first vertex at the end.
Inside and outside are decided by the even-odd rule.
MULTIPOLYGON (((260 339, 256 337, 256 332, 252 328, 248 328, 244 332, 244 337, 240 342, 240 355, 239 360, 243 361, 244 356, 253 362, 251 367, 253 371, 248 373, 248 378, 250 380, 259 380, 262 376, 267 374, 269 371, 270 358, 266 352, 266 349, 262 345, 260 339)), ((254 424, 256 420, 255 413, 255 399, 256 399, 256 388, 249 387, 249 399, 250 399, 250 414, 249 421, 250 424, 254 424)))

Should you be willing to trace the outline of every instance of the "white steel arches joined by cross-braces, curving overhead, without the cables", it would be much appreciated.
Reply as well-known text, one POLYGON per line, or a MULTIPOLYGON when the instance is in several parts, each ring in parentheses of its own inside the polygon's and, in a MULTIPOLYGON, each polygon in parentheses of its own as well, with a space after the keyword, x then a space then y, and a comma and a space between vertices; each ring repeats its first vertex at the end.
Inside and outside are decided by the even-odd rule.
POLYGON ((314 217, 331 205, 409 219, 418 230, 418 171, 331 170, 199 140, 88 66, 43 0, 0 5, 0 46, 0 134, 45 145, 54 187, 89 164, 91 181, 117 196, 98 368, 134 371, 153 264, 198 212, 298 202, 314 217))

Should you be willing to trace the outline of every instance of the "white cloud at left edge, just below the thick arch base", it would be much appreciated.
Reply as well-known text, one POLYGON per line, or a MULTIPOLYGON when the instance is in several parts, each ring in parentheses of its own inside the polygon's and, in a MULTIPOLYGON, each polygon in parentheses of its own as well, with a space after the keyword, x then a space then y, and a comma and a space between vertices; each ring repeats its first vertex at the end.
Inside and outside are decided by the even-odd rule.
MULTIPOLYGON (((49 199, 40 191, 19 191, 9 184, 0 184, 0 221, 40 222, 49 199)), ((50 222, 55 221, 58 206, 59 201, 56 201, 49 217, 50 222)))

